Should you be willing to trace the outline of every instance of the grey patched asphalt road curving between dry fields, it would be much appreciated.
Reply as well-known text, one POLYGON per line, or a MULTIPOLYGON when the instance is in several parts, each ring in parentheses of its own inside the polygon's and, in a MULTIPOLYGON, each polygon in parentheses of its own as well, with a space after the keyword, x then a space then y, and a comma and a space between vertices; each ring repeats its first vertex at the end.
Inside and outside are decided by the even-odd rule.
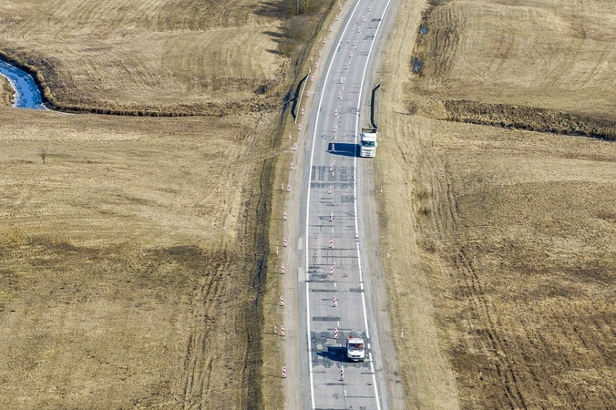
POLYGON ((323 72, 309 97, 310 121, 304 131, 308 160, 297 259, 298 272, 304 272, 298 275, 298 287, 300 321, 305 323, 301 364, 306 409, 391 408, 383 365, 378 363, 370 272, 364 269, 366 252, 360 248, 362 198, 364 191, 372 190, 363 186, 361 167, 371 159, 357 157, 358 130, 368 125, 365 102, 375 85, 368 83, 366 73, 390 3, 358 0, 351 5, 338 30, 323 39, 323 44, 334 46, 313 60, 313 73, 323 72), (364 337, 364 363, 346 362, 344 341, 349 335, 364 337))

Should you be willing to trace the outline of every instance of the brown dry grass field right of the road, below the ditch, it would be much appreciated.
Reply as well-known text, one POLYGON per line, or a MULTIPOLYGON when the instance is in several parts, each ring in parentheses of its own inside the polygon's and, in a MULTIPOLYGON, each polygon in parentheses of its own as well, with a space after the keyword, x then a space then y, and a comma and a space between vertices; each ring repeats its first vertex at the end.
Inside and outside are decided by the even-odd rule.
POLYGON ((613 407, 616 146, 431 129, 453 218, 421 231, 452 281, 436 288, 462 403, 613 407))

